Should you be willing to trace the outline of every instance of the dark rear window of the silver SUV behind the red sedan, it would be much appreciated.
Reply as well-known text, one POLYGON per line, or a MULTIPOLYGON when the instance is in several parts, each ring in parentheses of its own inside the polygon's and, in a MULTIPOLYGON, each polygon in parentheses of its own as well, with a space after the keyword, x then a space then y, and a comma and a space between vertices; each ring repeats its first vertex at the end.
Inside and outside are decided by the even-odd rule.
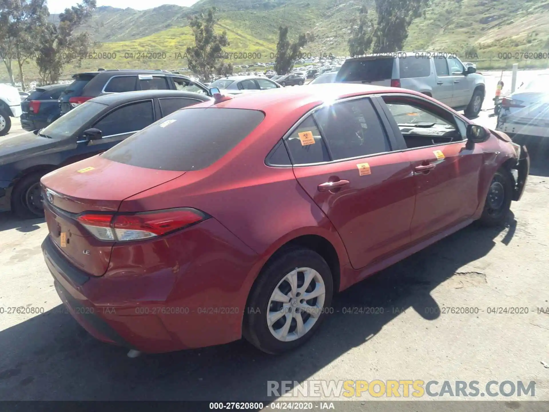
POLYGON ((378 58, 367 60, 347 60, 338 75, 336 82, 342 81, 380 81, 391 79, 393 75, 394 58, 378 58))

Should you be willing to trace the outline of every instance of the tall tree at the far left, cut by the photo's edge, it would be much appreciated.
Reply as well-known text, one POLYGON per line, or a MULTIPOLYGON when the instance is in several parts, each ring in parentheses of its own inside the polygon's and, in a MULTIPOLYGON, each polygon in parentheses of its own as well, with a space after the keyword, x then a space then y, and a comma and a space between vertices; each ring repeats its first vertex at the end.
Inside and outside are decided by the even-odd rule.
POLYGON ((25 90, 23 65, 35 54, 48 8, 45 0, 0 0, 0 54, 14 85, 13 62, 25 90))

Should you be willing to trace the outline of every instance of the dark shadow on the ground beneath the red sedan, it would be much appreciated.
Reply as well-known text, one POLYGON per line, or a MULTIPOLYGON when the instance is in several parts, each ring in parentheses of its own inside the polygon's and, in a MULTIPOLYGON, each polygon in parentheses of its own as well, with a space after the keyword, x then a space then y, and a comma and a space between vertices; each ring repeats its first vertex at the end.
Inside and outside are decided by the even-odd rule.
MULTIPOLYGON (((507 226, 513 221, 511 213, 507 226)), ((0 332, 0 399, 257 400, 267 404, 273 400, 267 396, 267 381, 306 380, 367 342, 401 309, 416 310, 427 321, 438 318, 433 289, 453 276, 463 276, 456 272, 488 254, 503 230, 468 226, 352 286, 335 297, 334 313, 309 342, 280 356, 266 355, 238 341, 130 359, 125 349, 89 336, 60 305, 0 332), (343 308, 353 307, 384 310, 377 315, 343 313, 343 308)))

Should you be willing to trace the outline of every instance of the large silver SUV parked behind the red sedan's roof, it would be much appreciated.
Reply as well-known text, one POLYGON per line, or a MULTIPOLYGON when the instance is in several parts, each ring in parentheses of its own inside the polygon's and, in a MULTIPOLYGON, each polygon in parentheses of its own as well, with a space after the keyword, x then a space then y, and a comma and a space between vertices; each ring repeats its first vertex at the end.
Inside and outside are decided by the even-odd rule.
POLYGON ((476 72, 453 53, 395 52, 345 60, 335 82, 415 90, 474 117, 485 95, 484 76, 476 72))

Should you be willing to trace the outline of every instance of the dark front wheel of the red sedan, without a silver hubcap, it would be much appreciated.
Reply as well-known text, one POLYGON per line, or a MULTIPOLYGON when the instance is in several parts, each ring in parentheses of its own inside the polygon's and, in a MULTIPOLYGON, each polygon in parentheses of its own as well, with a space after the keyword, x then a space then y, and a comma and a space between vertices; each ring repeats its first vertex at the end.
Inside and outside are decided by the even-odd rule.
POLYGON ((513 182, 513 175, 507 169, 501 168, 495 172, 478 220, 480 225, 491 227, 505 224, 513 199, 513 182))

